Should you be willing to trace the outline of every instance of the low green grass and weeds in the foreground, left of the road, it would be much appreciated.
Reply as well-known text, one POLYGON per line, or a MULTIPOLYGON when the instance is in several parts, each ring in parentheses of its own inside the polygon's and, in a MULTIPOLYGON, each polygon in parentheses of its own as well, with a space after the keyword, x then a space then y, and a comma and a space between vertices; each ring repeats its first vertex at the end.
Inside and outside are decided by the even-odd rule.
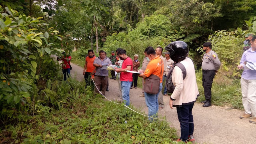
MULTIPOLYGON (((10 144, 150 144, 173 143, 176 130, 167 122, 150 123, 123 105, 104 101, 86 89, 60 110, 40 106, 38 115, 0 129, 10 144)), ((22 115, 20 115, 22 117, 22 115)), ((176 142, 175 142, 176 143, 176 142)))

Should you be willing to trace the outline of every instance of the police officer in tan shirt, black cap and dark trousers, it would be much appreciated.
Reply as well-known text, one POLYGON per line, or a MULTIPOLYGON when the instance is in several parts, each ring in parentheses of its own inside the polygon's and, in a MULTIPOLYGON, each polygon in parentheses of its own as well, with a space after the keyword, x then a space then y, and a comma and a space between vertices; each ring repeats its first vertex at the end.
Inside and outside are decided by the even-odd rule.
POLYGON ((212 51, 212 43, 206 42, 203 44, 203 51, 205 52, 202 62, 202 70, 203 70, 203 86, 204 86, 204 97, 205 101, 203 101, 203 107, 212 106, 212 82, 216 72, 218 72, 220 68, 220 60, 216 52, 212 51))

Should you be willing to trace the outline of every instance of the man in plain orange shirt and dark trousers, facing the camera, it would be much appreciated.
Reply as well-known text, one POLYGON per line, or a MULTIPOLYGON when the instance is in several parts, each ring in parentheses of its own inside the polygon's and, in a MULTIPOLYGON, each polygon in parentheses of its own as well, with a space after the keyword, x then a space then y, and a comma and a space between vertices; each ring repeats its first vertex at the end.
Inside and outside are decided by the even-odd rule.
POLYGON ((91 73, 94 71, 95 66, 93 66, 93 62, 96 56, 94 56, 93 50, 88 50, 88 56, 85 58, 84 64, 84 80, 86 82, 86 87, 88 85, 92 86, 92 90, 94 89, 94 84, 91 80, 91 73))

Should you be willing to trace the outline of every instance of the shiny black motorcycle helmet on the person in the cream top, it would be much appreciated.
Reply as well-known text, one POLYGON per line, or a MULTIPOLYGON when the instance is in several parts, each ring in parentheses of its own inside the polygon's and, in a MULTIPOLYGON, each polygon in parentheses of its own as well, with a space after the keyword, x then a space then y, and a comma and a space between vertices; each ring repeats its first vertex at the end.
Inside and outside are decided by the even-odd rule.
POLYGON ((184 60, 188 56, 188 44, 183 41, 175 41, 168 44, 165 49, 170 52, 170 58, 177 63, 179 60, 184 60))

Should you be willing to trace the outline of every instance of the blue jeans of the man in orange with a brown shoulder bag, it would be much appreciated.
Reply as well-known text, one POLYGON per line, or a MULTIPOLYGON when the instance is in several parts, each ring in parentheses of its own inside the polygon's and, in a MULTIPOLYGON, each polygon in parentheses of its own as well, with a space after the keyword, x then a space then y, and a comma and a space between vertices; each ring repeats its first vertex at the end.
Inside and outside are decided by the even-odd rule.
MULTIPOLYGON (((159 91, 157 94, 148 94, 144 92, 146 105, 148 107, 148 116, 154 116, 156 117, 156 114, 158 113, 158 95, 159 92, 162 90, 162 83, 160 83, 159 91)), ((153 118, 148 118, 150 121, 153 120, 153 118)))

